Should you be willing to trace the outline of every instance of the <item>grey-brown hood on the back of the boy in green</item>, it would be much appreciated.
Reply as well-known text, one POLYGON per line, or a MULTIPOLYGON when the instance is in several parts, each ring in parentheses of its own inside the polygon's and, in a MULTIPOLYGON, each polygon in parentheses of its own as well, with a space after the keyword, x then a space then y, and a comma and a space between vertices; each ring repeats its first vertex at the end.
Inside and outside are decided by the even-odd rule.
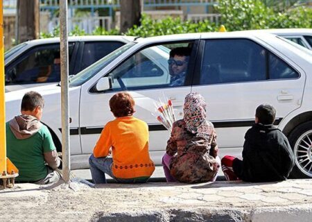
POLYGON ((40 130, 42 123, 31 115, 21 115, 11 119, 9 126, 17 139, 28 139, 40 130))

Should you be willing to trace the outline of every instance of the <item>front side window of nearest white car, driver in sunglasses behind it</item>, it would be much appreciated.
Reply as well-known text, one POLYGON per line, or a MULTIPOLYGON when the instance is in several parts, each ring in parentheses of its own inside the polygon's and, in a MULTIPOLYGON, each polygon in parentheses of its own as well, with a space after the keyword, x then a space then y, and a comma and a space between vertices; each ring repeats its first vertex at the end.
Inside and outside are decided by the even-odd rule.
POLYGON ((170 55, 173 49, 175 49, 174 51, 181 50, 182 53, 185 50, 189 53, 192 48, 193 42, 183 42, 153 45, 138 51, 111 72, 112 89, 119 91, 184 85, 189 56, 171 58, 170 55), (176 71, 176 76, 173 71, 176 71), (173 85, 173 76, 179 80, 175 82, 176 85, 173 85))

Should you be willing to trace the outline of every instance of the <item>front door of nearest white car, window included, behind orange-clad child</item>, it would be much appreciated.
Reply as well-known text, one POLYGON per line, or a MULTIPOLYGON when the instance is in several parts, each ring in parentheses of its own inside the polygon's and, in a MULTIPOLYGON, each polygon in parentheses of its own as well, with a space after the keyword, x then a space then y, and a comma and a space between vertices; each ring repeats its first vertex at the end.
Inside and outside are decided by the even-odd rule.
POLYGON ((150 153, 156 164, 161 163, 170 132, 157 122, 156 108, 160 101, 171 99, 178 119, 182 118, 184 97, 191 92, 193 60, 196 58, 196 41, 153 44, 132 53, 110 71, 112 89, 96 92, 94 87, 83 85, 80 99, 80 130, 83 153, 92 153, 94 145, 108 121, 114 119, 109 100, 116 92, 128 91, 135 99, 135 117, 148 123, 150 131, 150 153), (187 78, 184 84, 169 86, 169 52, 175 47, 190 47, 187 78), (166 97, 166 99, 164 99, 166 97))

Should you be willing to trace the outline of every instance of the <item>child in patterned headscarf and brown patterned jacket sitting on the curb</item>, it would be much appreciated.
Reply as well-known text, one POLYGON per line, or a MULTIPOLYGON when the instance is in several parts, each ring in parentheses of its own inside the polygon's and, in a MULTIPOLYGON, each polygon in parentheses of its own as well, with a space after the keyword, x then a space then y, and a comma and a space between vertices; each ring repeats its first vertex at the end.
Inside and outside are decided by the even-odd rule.
POLYGON ((220 166, 216 131, 206 119, 205 99, 190 93, 184 101, 184 117, 173 123, 162 159, 167 182, 216 180, 220 166))

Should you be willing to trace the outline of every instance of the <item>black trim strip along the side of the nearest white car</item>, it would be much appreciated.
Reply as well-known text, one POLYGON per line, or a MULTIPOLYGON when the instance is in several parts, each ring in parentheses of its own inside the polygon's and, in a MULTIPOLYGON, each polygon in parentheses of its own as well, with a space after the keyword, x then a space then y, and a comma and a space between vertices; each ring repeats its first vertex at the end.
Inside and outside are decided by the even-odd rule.
MULTIPOLYGON (((275 119, 274 125, 279 125, 283 118, 275 119)), ((214 128, 229 128, 229 127, 249 127, 254 123, 254 119, 243 120, 243 121, 212 121, 214 128)), ((62 132, 62 128, 59 128, 62 132)), ((79 130, 81 135, 91 135, 91 134, 101 134, 103 127, 80 127, 71 128, 69 130, 70 135, 79 135, 79 130)), ((149 124, 148 131, 163 131, 166 128, 162 124, 149 124)))

